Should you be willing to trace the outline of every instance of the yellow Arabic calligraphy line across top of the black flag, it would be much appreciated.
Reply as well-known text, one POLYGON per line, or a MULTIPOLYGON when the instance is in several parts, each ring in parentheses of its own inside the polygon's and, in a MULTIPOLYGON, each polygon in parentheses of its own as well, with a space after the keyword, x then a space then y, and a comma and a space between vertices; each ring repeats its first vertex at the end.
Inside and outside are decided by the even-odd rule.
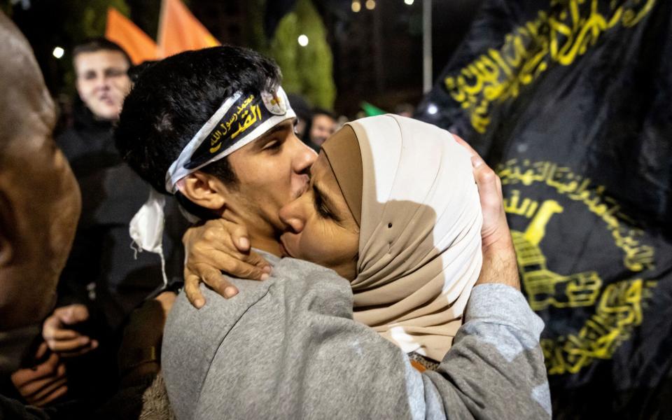
POLYGON ((491 104, 518 97, 521 86, 533 83, 551 64, 573 64, 614 27, 634 27, 657 0, 622 2, 552 0, 552 12, 541 10, 505 36, 499 50, 489 49, 454 76, 444 87, 468 111, 474 130, 484 134, 490 125, 491 104), (601 4, 608 11, 601 12, 601 4), (621 3, 619 7, 616 7, 621 3), (557 6, 561 6, 557 8, 557 6))

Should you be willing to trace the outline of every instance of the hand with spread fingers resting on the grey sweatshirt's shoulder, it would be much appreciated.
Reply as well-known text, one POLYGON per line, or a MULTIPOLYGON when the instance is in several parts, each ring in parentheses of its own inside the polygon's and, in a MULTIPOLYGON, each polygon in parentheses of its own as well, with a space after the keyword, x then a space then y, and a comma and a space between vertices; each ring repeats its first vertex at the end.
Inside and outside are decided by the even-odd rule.
POLYGON ((232 297, 238 289, 221 272, 241 279, 266 280, 271 267, 250 249, 247 229, 223 219, 207 221, 189 228, 182 238, 187 255, 184 264, 184 290, 194 307, 205 304, 201 281, 224 297, 232 297))

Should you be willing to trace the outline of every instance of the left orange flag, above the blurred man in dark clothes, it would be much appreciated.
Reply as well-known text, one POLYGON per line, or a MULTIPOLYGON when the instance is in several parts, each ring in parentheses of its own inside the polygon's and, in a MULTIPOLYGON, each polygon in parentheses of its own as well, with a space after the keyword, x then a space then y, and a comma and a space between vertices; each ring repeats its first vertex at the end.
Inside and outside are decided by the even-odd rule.
POLYGON ((133 64, 158 59, 158 47, 152 38, 115 8, 107 9, 105 38, 118 43, 126 50, 133 64))

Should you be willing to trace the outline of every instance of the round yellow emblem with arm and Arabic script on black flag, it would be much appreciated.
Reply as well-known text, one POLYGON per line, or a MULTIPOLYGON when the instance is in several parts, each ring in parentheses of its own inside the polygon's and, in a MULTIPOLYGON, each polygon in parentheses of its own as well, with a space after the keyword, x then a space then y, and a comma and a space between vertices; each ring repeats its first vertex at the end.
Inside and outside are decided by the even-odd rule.
MULTIPOLYGON (((657 281, 646 279, 655 268, 654 247, 645 243, 645 232, 634 228, 633 221, 611 197, 603 195, 603 186, 591 186, 591 180, 554 162, 511 159, 498 165, 497 174, 505 188, 507 215, 521 216, 529 222, 525 230, 513 229, 521 284, 530 307, 543 311, 549 307, 595 307, 581 328, 554 338, 542 338, 549 374, 577 373, 596 359, 608 359, 631 337, 643 321, 642 309, 657 281), (555 199, 533 200, 524 197, 527 188, 548 187, 555 199), (631 273, 603 288, 596 270, 563 274, 547 267, 541 243, 546 226, 554 215, 563 214, 572 202, 603 223, 613 244, 622 251, 622 264, 631 273)), ((555 216, 559 217, 559 216, 555 216)))

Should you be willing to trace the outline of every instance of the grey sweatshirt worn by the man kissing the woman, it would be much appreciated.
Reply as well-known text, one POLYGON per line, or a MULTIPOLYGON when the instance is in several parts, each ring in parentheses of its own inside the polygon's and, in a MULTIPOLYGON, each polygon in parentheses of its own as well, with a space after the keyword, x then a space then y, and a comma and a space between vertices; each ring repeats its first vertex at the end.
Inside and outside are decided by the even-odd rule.
POLYGON ((350 284, 330 269, 268 257, 271 279, 202 287, 168 317, 162 370, 178 419, 545 419, 543 323, 518 290, 472 290, 435 372, 352 319, 350 284))

